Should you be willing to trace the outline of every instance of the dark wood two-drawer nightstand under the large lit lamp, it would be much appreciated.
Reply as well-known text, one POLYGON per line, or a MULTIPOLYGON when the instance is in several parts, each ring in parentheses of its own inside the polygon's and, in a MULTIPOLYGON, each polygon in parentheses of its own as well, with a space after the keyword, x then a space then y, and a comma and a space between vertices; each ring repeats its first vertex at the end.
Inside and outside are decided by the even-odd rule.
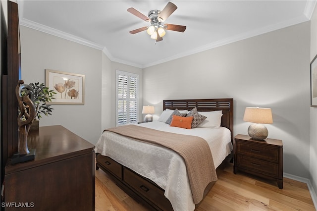
POLYGON ((253 140, 247 135, 236 135, 233 140, 233 173, 241 170, 277 181, 283 189, 283 142, 278 139, 253 140))

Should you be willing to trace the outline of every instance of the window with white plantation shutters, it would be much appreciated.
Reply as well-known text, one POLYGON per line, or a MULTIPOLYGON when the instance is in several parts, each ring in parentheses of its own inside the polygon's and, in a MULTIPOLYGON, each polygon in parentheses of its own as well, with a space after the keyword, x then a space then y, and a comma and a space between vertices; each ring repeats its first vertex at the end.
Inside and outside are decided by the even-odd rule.
POLYGON ((139 75, 116 71, 116 125, 138 121, 139 75))

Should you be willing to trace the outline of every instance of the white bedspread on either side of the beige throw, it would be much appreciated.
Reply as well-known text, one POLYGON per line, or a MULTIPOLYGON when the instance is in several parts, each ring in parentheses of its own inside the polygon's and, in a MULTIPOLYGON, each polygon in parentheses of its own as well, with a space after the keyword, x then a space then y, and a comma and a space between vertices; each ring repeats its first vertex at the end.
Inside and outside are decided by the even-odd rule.
MULTIPOLYGON (((231 133, 224 127, 184 129, 170 127, 159 121, 138 126, 202 137, 211 148, 215 167, 232 150, 231 133)), ((174 211, 195 210, 184 160, 174 151, 108 131, 98 140, 95 151, 154 181, 165 190, 164 195, 171 202, 174 211)))

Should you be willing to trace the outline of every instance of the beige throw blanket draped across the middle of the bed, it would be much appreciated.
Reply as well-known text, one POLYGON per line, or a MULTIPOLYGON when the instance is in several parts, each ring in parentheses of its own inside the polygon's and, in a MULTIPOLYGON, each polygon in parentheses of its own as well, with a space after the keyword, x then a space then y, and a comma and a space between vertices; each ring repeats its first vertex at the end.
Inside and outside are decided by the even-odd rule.
POLYGON ((201 137, 164 132, 137 125, 113 127, 106 131, 157 144, 178 153, 185 160, 195 204, 203 200, 207 185, 217 180, 210 147, 201 137))

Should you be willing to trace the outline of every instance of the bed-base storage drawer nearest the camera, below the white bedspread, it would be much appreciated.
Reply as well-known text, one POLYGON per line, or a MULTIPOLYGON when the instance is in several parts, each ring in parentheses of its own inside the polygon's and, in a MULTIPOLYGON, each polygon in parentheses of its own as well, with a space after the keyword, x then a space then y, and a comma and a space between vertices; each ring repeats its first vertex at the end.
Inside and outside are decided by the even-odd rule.
POLYGON ((146 196, 150 201, 157 203, 156 205, 162 210, 170 210, 170 202, 164 196, 164 190, 154 185, 145 178, 138 176, 130 169, 124 168, 124 182, 128 183, 134 190, 146 196))

